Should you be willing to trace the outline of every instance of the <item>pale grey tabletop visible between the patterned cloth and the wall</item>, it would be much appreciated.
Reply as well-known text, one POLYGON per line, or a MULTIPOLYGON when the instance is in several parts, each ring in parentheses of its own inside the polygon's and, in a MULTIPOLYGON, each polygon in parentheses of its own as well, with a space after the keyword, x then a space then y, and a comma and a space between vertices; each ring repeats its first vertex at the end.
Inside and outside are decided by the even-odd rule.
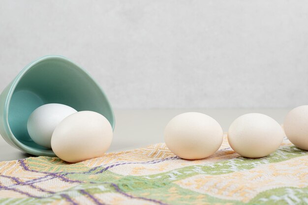
MULTIPOLYGON (((164 141, 163 131, 168 121, 181 113, 201 112, 214 117, 224 132, 231 122, 246 113, 262 113, 282 124, 291 109, 177 109, 177 110, 115 110, 116 127, 108 152, 148 146, 164 141)), ((30 157, 0 138, 0 161, 30 157)))

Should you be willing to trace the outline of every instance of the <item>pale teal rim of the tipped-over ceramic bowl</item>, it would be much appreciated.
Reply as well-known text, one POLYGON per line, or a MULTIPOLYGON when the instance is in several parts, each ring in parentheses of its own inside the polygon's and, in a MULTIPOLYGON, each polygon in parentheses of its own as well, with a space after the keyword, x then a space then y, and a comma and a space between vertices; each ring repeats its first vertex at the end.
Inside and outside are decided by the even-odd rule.
POLYGON ((27 146, 25 144, 23 144, 22 142, 20 142, 12 133, 10 125, 8 123, 8 111, 9 111, 9 104, 12 98, 12 95, 18 85, 18 83, 20 82, 20 80, 22 79, 22 77, 37 63, 45 61, 47 59, 61 59, 64 60, 66 62, 69 62, 71 64, 73 64, 75 66, 76 69, 79 69, 80 71, 83 71, 83 73, 85 74, 85 77, 87 77, 89 80, 91 80, 101 91, 102 95, 104 96, 104 98, 107 101, 109 110, 111 111, 111 116, 113 119, 113 122, 111 124, 112 129, 114 130, 115 128, 115 116, 114 116, 114 112, 113 109, 111 107, 110 101, 107 98, 107 95, 105 94, 105 92, 103 91, 103 89, 99 86, 99 84, 92 78, 92 76, 90 75, 90 73, 88 71, 86 71, 84 68, 82 68, 80 65, 78 65, 77 63, 71 61, 70 59, 67 59, 63 56, 58 56, 58 55, 49 55, 49 56, 43 56, 39 59, 36 59, 34 61, 32 61, 31 63, 29 63, 28 65, 26 65, 19 73, 18 75, 14 78, 14 80, 12 81, 12 85, 9 88, 9 91, 7 93, 7 97, 5 99, 5 103, 4 103, 4 112, 3 112, 3 117, 4 117, 4 129, 6 131, 6 133, 9 135, 9 141, 11 141, 14 146, 16 146, 16 148, 19 148, 22 151, 25 151, 29 154, 33 154, 33 155, 37 155, 37 156, 51 156, 51 157, 55 157, 56 154, 53 152, 52 149, 37 149, 31 146, 27 146))

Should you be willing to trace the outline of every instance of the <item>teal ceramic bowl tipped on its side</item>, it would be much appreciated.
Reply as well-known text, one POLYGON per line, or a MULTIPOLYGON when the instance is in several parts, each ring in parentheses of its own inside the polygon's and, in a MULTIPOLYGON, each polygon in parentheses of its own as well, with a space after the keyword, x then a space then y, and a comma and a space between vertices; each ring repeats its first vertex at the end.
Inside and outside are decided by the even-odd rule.
POLYGON ((64 57, 46 56, 27 65, 0 94, 0 135, 29 154, 56 156, 51 149, 34 143, 27 130, 31 113, 48 103, 100 113, 114 129, 111 105, 89 73, 64 57))

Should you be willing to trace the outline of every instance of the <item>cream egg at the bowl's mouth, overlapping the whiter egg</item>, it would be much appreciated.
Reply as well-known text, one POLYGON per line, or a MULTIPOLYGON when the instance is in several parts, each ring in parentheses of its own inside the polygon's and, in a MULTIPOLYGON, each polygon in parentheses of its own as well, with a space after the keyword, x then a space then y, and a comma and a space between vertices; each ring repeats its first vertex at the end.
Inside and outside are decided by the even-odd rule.
POLYGON ((81 111, 62 120, 51 138, 55 154, 67 162, 102 156, 112 141, 113 130, 106 117, 81 111))

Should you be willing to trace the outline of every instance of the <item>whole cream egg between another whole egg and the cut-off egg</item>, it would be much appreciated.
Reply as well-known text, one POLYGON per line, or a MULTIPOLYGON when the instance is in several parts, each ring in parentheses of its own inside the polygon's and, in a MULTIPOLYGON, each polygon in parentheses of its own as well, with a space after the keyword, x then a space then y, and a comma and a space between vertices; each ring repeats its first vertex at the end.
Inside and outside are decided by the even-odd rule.
POLYGON ((284 137, 278 122, 266 115, 250 113, 236 118, 229 127, 228 142, 238 154, 259 158, 274 152, 284 137))

